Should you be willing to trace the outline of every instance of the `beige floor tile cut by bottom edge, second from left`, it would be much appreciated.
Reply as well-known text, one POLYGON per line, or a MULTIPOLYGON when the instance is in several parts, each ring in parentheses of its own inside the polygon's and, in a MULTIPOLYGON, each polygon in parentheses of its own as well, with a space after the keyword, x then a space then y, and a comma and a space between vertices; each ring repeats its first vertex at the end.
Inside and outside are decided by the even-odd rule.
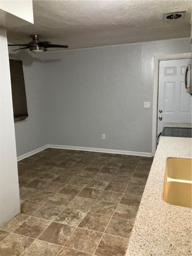
POLYGON ((61 246, 36 240, 22 256, 56 256, 61 246))

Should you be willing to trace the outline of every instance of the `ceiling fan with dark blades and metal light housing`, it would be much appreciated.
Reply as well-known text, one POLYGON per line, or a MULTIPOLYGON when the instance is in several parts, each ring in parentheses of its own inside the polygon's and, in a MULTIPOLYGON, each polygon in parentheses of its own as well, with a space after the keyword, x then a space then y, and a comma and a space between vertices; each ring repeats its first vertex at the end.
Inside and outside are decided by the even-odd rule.
POLYGON ((19 48, 13 51, 21 50, 21 49, 29 49, 34 53, 41 53, 46 51, 47 48, 68 48, 68 45, 60 45, 60 44, 51 44, 48 41, 40 42, 39 35, 30 35, 32 41, 28 44, 8 44, 8 46, 25 46, 23 48, 19 48))

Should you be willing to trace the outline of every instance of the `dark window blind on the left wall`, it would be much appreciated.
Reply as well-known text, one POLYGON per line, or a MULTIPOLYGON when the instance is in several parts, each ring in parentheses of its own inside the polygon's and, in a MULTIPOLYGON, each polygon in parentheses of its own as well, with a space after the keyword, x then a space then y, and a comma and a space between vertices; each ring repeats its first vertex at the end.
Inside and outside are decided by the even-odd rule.
POLYGON ((9 59, 14 119, 28 117, 23 65, 21 60, 9 59))

